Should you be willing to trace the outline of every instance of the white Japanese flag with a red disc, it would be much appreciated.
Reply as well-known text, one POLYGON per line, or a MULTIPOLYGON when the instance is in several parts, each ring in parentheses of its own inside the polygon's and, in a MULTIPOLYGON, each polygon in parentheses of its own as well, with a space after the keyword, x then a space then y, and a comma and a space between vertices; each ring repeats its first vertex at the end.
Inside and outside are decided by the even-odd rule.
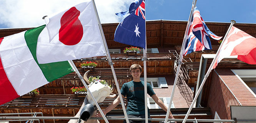
POLYGON ((37 42, 39 63, 106 56, 91 0, 45 18, 46 28, 37 42))

